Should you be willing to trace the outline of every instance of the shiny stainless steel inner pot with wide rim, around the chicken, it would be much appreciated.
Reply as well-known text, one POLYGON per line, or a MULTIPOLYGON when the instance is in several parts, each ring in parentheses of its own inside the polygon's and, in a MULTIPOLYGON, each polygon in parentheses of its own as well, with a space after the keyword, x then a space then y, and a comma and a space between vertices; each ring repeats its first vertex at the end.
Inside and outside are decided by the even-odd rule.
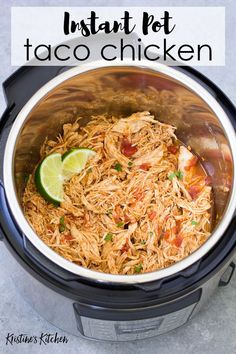
POLYGON ((174 68, 143 62, 116 66, 94 62, 70 69, 44 85, 18 114, 4 154, 4 185, 13 216, 29 241, 51 261, 82 277, 109 283, 143 283, 179 272, 203 257, 223 236, 235 211, 236 138, 226 113, 195 80, 174 68), (147 89, 148 88, 148 89, 147 89), (62 125, 82 116, 86 124, 99 113, 129 115, 150 111, 177 127, 177 136, 203 158, 212 176, 216 223, 208 241, 184 260, 155 272, 111 275, 91 271, 59 256, 44 244, 21 208, 25 175, 39 161, 46 137, 55 138, 62 125))

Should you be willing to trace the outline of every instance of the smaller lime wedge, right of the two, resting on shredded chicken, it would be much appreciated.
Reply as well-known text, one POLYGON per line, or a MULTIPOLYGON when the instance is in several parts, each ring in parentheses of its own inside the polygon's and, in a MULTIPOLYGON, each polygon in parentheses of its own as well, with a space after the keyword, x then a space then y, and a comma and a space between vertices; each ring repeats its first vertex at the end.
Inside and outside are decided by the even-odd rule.
POLYGON ((95 151, 88 148, 74 148, 67 151, 62 156, 62 174, 65 180, 70 179, 75 174, 80 173, 88 159, 96 155, 95 151))

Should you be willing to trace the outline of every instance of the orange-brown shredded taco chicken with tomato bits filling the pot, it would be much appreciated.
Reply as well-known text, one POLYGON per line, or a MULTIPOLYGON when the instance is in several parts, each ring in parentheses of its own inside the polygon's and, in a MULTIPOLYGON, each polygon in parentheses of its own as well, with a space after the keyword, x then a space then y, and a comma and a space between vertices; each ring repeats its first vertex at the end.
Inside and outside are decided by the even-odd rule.
POLYGON ((99 272, 136 274, 170 266, 210 236, 211 187, 175 127, 149 112, 95 116, 64 124, 41 155, 79 146, 96 155, 65 182, 59 207, 38 194, 34 174, 23 196, 29 223, 55 252, 99 272))

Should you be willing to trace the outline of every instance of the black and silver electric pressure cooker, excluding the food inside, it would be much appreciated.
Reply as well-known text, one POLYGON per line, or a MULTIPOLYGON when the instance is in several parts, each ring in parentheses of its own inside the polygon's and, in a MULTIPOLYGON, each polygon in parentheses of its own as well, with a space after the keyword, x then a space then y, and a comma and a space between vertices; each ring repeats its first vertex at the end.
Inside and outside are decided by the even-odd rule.
POLYGON ((236 110, 219 88, 191 68, 125 60, 22 67, 3 89, 0 226, 10 252, 6 271, 7 262, 17 262, 13 281, 40 315, 90 339, 143 339, 185 324, 229 283, 236 247, 236 110), (214 192, 212 235, 189 257, 155 272, 112 275, 80 267, 44 244, 25 219, 27 176, 45 138, 55 138, 64 123, 81 116, 85 125, 95 114, 144 110, 175 125, 178 138, 201 156, 214 192))

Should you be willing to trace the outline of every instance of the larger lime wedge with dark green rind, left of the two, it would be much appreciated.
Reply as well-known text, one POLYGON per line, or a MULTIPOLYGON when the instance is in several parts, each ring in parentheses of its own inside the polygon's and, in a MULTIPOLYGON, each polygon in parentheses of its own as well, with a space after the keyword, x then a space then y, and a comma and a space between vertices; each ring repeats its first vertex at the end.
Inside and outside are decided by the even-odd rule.
POLYGON ((35 171, 35 184, 44 199, 59 205, 63 201, 63 176, 61 154, 45 157, 35 171))

